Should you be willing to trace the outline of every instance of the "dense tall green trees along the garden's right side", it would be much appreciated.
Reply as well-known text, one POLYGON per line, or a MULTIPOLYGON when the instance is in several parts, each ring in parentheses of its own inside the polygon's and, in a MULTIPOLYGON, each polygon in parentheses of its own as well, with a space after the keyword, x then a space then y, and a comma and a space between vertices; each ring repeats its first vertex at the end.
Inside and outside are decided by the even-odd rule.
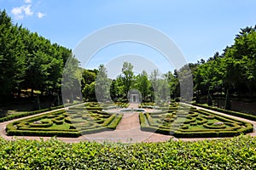
POLYGON ((205 62, 198 62, 194 71, 195 90, 207 94, 207 89, 219 92, 230 89, 230 93, 250 95, 256 89, 256 26, 241 29, 235 42, 224 49, 224 54, 213 55, 205 62), (218 87, 218 88, 217 88, 218 87))

